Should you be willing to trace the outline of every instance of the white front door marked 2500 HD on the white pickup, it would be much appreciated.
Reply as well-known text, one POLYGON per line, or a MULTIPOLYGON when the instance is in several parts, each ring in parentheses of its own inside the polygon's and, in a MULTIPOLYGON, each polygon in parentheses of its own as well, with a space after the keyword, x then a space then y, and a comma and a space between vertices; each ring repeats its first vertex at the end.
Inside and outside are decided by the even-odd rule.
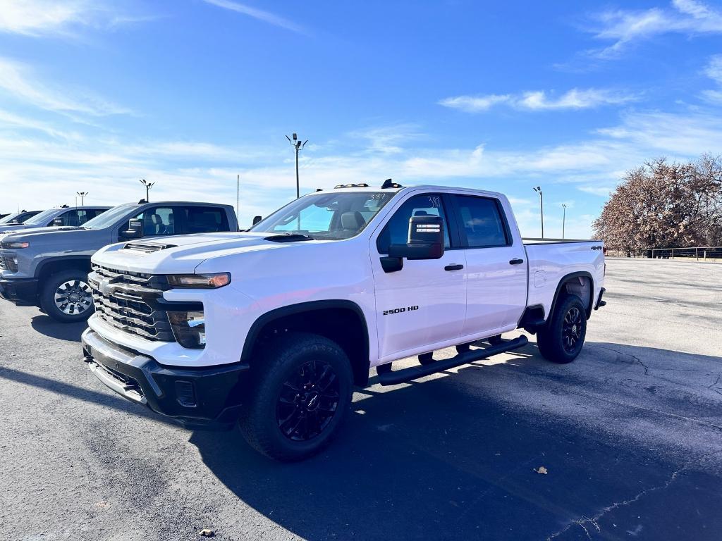
MULTIPOLYGON (((463 250, 451 246, 445 196, 412 195, 394 211, 378 237, 372 237, 371 263, 376 294, 379 356, 432 346, 458 338, 466 317, 463 250), (406 244, 409 218, 426 215, 444 220, 445 252, 436 260, 406 260, 401 271, 386 273, 380 258, 391 244, 406 244)), ((430 349, 433 349, 430 347, 430 349)))

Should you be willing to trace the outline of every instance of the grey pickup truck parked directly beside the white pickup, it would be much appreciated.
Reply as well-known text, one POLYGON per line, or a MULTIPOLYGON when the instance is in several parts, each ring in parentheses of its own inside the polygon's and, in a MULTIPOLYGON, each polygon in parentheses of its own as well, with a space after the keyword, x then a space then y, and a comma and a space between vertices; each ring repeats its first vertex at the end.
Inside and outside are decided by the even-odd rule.
POLYGON ((11 232, 0 236, 0 297, 37 306, 59 322, 86 320, 93 307, 90 257, 103 246, 133 240, 142 247, 142 237, 228 231, 238 231, 232 206, 141 201, 116 206, 82 226, 11 232))

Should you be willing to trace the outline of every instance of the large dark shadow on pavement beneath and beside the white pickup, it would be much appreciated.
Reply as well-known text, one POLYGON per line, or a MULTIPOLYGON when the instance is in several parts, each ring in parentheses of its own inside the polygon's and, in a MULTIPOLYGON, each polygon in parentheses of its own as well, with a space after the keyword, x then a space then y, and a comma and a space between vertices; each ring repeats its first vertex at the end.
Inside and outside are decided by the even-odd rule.
MULTIPOLYGON (((656 352, 588 346, 580 363, 601 355, 595 346, 637 359, 656 352)), ((676 355, 680 362, 722 361, 676 355)), ((608 358, 623 365, 615 369, 645 374, 633 360, 608 358)), ((574 424, 543 404, 516 407, 490 392, 521 376, 514 392, 528 386, 534 395, 545 382, 582 377, 575 364, 549 364, 530 344, 506 364, 460 371, 360 391, 336 441, 305 462, 261 457, 238 431, 196 431, 190 441, 240 500, 310 540, 718 539, 722 483, 713 468, 690 467, 648 444, 574 424), (535 471, 540 466, 547 475, 535 471)), ((580 408, 595 408, 577 400, 580 408)), ((710 434, 722 449, 720 432, 710 434)), ((220 526, 221 537, 233 537, 220 526)), ((287 536, 280 529, 263 533, 287 536)))

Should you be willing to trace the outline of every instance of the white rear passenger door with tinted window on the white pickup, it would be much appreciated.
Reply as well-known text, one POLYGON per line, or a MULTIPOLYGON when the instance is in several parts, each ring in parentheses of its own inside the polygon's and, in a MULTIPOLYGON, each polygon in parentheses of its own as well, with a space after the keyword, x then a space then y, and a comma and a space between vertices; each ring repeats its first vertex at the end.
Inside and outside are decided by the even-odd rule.
POLYGON ((516 327, 526 307, 527 262, 521 237, 502 201, 451 196, 466 257, 466 320, 462 336, 516 327))

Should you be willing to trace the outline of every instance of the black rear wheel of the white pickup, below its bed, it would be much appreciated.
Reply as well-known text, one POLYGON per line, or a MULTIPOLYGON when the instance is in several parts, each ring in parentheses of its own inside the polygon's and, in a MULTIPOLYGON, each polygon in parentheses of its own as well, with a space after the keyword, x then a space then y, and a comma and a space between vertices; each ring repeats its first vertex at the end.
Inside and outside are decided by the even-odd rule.
POLYGON ((547 325, 537 331, 536 346, 549 361, 570 363, 577 358, 586 337, 586 309, 576 295, 560 299, 547 325))

